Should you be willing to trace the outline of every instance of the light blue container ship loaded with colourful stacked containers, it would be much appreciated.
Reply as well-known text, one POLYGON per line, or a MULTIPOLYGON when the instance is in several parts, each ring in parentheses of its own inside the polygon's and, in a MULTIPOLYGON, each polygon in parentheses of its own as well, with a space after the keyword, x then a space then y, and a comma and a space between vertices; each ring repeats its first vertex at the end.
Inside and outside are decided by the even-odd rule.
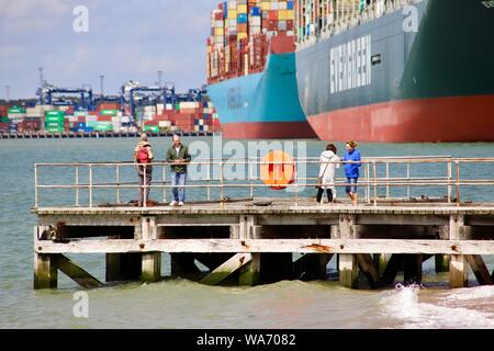
POLYGON ((229 0, 211 13, 207 95, 226 138, 314 138, 299 102, 293 1, 229 0))

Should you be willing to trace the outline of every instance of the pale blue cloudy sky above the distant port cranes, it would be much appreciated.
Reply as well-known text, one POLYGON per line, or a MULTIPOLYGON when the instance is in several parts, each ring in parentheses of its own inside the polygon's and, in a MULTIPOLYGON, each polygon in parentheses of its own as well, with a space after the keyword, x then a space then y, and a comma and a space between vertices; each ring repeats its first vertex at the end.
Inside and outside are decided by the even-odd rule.
POLYGON ((0 99, 34 98, 44 78, 117 94, 128 80, 205 83, 210 12, 218 0, 0 0, 0 99), (87 11, 87 12, 86 12, 87 11), (87 16, 86 16, 87 13, 87 16))

